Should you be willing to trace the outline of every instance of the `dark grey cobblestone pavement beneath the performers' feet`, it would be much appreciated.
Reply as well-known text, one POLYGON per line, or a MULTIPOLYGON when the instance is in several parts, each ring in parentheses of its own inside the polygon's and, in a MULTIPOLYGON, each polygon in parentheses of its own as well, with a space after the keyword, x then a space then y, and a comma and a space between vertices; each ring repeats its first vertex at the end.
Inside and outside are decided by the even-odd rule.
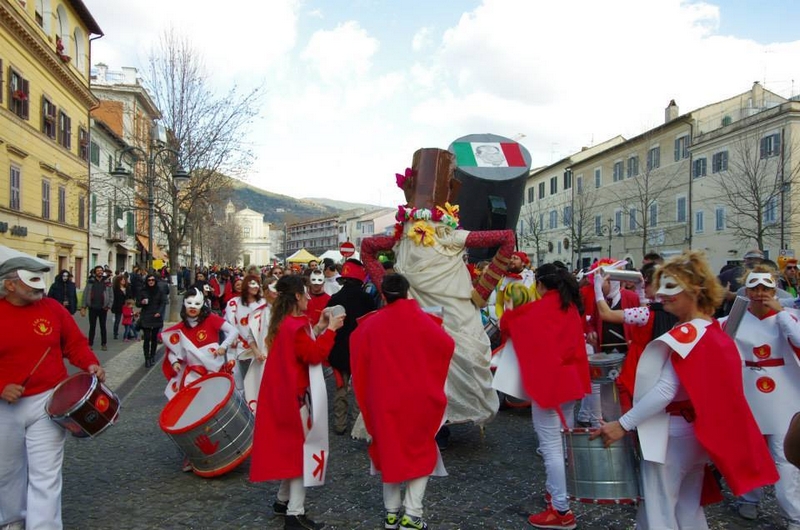
MULTIPOLYGON (((141 343, 111 341, 109 351, 99 353, 109 386, 123 398, 121 419, 96 439, 68 440, 66 528, 282 528, 282 519, 271 510, 277 484, 251 483, 248 462, 215 479, 180 471, 181 455, 158 427, 165 380, 158 368, 143 368, 141 343)), ((411 391, 402 381, 398 378, 398 390, 411 391)), ((451 446, 443 454, 449 476, 432 478, 425 498, 431 529, 529 528, 527 515, 544 508, 544 469, 534 452, 529 411, 501 411, 484 434, 469 426, 452 431, 451 446)), ((331 455, 327 484, 308 491, 308 514, 333 529, 382 528, 380 481, 368 473, 363 442, 332 434, 331 455)), ((728 493, 724 503, 708 509, 711 527, 784 528, 771 490, 765 500, 762 519, 748 522, 733 513, 728 493)), ((632 507, 573 508, 579 528, 633 526, 632 507)))

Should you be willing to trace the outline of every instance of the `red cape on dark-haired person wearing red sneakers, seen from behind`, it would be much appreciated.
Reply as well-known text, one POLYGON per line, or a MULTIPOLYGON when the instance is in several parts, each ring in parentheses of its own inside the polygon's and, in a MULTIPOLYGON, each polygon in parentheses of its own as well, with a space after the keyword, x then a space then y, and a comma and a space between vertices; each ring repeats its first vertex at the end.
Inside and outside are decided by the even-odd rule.
POLYGON ((503 313, 514 342, 525 391, 542 408, 591 392, 583 321, 575 306, 561 309, 557 291, 503 313))

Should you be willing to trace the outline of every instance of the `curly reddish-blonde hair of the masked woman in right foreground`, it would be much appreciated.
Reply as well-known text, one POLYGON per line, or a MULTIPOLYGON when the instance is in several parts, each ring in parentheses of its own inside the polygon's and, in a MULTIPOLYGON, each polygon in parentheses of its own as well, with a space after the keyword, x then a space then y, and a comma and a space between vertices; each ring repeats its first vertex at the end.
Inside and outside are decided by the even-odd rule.
POLYGON ((698 250, 685 250, 665 261, 656 269, 653 281, 660 283, 662 276, 675 278, 705 315, 713 315, 725 297, 725 288, 711 270, 705 253, 698 250))

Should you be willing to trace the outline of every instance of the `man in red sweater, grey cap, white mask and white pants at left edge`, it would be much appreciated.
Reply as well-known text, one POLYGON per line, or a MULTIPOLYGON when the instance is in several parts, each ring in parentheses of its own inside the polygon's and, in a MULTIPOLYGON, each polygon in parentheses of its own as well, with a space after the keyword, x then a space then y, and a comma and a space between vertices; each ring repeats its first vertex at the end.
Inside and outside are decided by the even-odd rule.
POLYGON ((66 431, 45 406, 67 378, 64 359, 105 380, 75 320, 44 297, 50 267, 31 257, 0 263, 0 527, 62 528, 61 466, 66 431))

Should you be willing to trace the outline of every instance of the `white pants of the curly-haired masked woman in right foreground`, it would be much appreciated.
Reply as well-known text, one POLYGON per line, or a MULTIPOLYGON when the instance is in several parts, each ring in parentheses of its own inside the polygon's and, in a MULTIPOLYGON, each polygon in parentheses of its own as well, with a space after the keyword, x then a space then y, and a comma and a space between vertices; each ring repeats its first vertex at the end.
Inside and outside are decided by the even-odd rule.
POLYGON ((666 464, 642 460, 642 496, 636 528, 645 530, 707 530, 700 506, 706 453, 694 435, 694 426, 670 416, 666 464))

